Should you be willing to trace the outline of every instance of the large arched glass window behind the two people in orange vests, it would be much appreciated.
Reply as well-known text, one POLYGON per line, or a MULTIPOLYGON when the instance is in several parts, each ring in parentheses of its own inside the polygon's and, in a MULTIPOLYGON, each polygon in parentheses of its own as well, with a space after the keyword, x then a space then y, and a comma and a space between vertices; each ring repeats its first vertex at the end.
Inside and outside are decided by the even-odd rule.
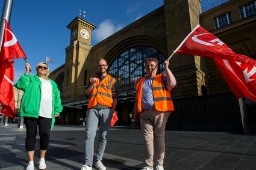
POLYGON ((164 72, 163 62, 166 58, 163 53, 150 46, 136 46, 117 56, 110 64, 108 73, 117 79, 119 85, 133 83, 137 78, 146 75, 146 58, 158 59, 158 73, 164 72))

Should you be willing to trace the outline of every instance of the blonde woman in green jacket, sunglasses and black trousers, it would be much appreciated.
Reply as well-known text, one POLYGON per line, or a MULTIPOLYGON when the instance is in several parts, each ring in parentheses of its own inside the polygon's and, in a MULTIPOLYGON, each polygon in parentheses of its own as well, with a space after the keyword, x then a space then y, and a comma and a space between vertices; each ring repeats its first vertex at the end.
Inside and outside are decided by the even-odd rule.
POLYGON ((34 150, 36 144, 37 126, 40 136, 39 169, 45 169, 45 153, 49 145, 50 129, 54 126, 55 118, 60 115, 62 105, 57 84, 45 77, 49 67, 46 62, 40 62, 37 75, 30 76, 30 64, 26 63, 26 72, 17 82, 16 87, 24 91, 20 105, 20 116, 24 117, 27 138, 25 147, 29 163, 27 170, 34 170, 34 150))

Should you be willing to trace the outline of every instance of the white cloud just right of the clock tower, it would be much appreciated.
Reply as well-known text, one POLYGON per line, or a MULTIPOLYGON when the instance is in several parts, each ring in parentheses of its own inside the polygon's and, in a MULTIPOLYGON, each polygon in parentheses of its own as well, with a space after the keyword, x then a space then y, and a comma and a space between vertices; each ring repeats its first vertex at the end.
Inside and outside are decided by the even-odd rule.
POLYGON ((99 24, 98 28, 96 28, 93 31, 93 34, 94 34, 93 38, 95 38, 96 41, 104 40, 105 38, 114 34, 115 32, 119 31, 122 28, 123 28, 122 24, 115 25, 115 23, 112 20, 106 19, 102 21, 99 24))

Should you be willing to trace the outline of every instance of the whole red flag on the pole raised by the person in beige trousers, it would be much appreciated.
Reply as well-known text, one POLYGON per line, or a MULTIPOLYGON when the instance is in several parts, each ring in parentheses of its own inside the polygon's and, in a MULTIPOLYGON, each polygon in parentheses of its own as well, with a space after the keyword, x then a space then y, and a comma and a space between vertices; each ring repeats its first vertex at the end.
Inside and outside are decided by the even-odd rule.
POLYGON ((174 53, 212 57, 237 99, 248 97, 256 102, 256 60, 233 52, 200 25, 187 35, 174 53))

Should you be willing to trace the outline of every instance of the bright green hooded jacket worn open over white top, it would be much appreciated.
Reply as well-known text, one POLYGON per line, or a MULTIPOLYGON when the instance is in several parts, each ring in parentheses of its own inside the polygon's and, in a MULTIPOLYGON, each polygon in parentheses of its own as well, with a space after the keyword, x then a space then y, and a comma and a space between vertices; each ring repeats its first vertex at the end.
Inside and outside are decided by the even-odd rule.
MULTIPOLYGON (((55 123, 54 114, 60 115, 63 106, 61 105, 60 91, 57 84, 48 77, 45 78, 50 80, 52 84, 52 129, 55 123)), ((38 118, 42 89, 42 82, 39 76, 23 74, 17 81, 16 87, 24 91, 20 104, 20 116, 38 118)))

